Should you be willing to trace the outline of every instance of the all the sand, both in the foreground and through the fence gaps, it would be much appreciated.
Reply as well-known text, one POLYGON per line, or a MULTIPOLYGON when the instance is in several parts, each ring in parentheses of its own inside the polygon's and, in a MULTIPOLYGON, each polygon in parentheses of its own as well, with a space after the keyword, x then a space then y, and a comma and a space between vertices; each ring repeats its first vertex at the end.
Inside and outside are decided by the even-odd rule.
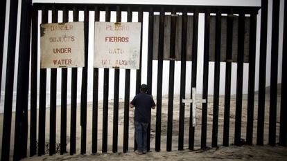
MULTIPOLYGON (((198 97, 201 97, 200 95, 198 97)), ((230 109, 230 132, 229 144, 225 147, 223 144, 223 113, 224 113, 224 96, 220 96, 219 102, 219 118, 218 118, 218 148, 211 148, 211 131, 212 131, 212 118, 213 118, 213 97, 209 96, 208 100, 208 117, 207 117, 207 149, 200 149, 200 135, 201 135, 201 115, 202 107, 198 104, 196 108, 196 126, 195 126, 195 150, 188 150, 189 140, 189 110, 190 107, 185 108, 185 122, 184 122, 184 151, 177 151, 178 140, 178 120, 179 120, 179 96, 175 96, 173 108, 173 144, 172 151, 166 151, 166 131, 167 131, 167 106, 168 97, 165 96, 162 100, 162 138, 161 138, 161 151, 155 152, 155 115, 156 111, 152 111, 151 118, 151 143, 150 152, 146 155, 137 155, 134 153, 134 127, 133 127, 133 110, 130 109, 130 125, 129 125, 129 151, 123 153, 123 100, 119 100, 119 136, 118 136, 118 153, 112 153, 112 122, 113 122, 113 102, 109 101, 109 118, 108 118, 108 146, 107 153, 101 153, 102 142, 102 102, 98 105, 98 153, 92 154, 92 104, 87 106, 87 153, 80 155, 80 105, 77 112, 77 144, 76 155, 69 155, 65 153, 60 155, 60 149, 57 149, 57 154, 49 155, 49 108, 46 109, 46 155, 33 156, 25 158, 24 160, 287 160, 287 148, 282 146, 269 146, 268 145, 268 113, 269 113, 269 99, 266 97, 266 119, 265 119, 265 132, 264 132, 264 146, 234 146, 234 123, 235 123, 235 104, 236 95, 231 97, 230 109)), ((156 102, 157 100, 155 100, 156 102)), ((277 104, 280 104, 280 95, 277 99, 277 104)), ((257 125, 257 95, 254 102, 254 133, 253 144, 256 144, 256 125, 257 125)), ((277 108, 279 114, 279 106, 277 108)), ((57 125, 56 125, 56 144, 59 148, 60 144, 60 106, 57 108, 57 125)), ((69 152, 69 133, 70 133, 70 106, 67 107, 67 151, 69 152)), ((241 138, 245 140, 246 122, 247 122, 247 95, 243 95, 243 109, 242 109, 242 128, 241 138)), ((3 120, 3 114, 0 115, 0 120, 3 120)), ((14 131, 15 113, 12 114, 12 134, 14 131)), ((2 129, 3 124, 0 125, 2 129)), ((2 135, 2 131, 0 133, 2 135)), ((28 138, 29 140, 29 138, 28 138)), ((279 115, 277 115, 277 142, 279 140, 279 115)), ((14 135, 11 135, 11 147, 13 146, 14 135)), ((28 142, 29 147, 29 142, 28 142)), ((0 147, 1 148, 1 147, 0 147)), ((11 148, 10 156, 12 159, 11 148)), ((29 151, 28 151, 29 154, 29 151)))

